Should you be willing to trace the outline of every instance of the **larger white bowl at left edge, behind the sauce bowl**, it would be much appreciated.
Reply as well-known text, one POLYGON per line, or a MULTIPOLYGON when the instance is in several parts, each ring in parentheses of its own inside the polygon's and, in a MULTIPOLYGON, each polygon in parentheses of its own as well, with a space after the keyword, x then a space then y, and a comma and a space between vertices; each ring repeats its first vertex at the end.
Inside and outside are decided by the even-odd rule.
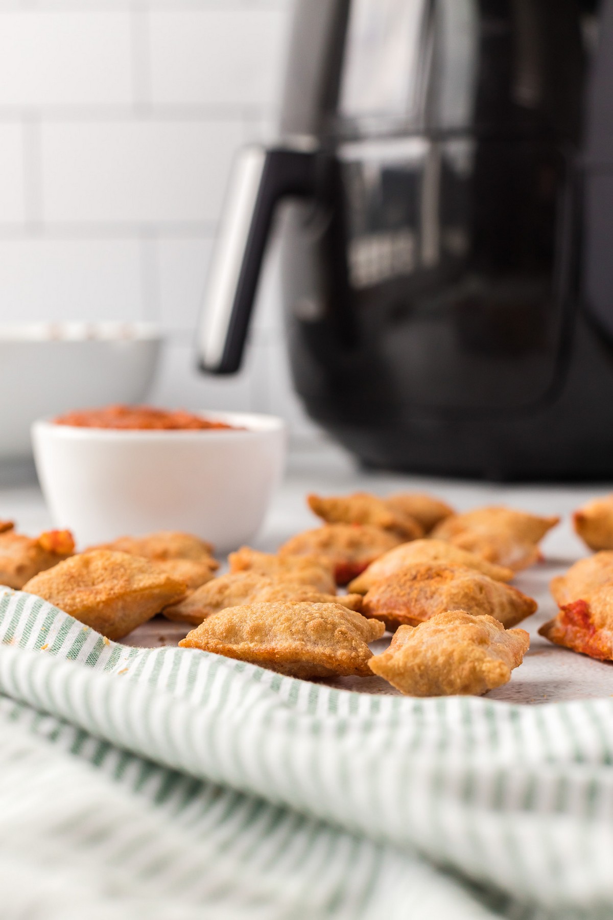
POLYGON ((161 342, 144 323, 0 325, 0 460, 31 454, 35 419, 140 402, 161 342))

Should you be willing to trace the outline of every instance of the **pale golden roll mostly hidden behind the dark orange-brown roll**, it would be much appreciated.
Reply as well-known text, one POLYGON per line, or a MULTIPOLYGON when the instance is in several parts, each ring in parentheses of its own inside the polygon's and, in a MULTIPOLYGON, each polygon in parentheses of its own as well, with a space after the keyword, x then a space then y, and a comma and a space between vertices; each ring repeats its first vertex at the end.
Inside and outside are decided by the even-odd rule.
POLYGON ((389 553, 376 559, 369 568, 358 575, 357 579, 349 584, 349 591, 366 594, 377 581, 382 581, 406 566, 417 562, 440 562, 449 566, 464 566, 466 569, 475 569, 483 575, 489 575, 495 581, 511 581, 515 576, 513 569, 496 566, 486 562, 480 556, 469 553, 465 549, 446 543, 444 540, 426 539, 413 540, 411 543, 402 543, 394 546, 389 553))

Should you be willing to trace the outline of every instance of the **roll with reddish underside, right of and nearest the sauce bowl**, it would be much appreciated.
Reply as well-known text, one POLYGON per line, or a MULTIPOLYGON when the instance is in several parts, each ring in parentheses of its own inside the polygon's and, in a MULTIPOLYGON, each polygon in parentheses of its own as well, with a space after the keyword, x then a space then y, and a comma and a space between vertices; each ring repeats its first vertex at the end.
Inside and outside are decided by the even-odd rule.
POLYGON ((292 536, 278 554, 283 558, 307 553, 323 556, 334 568, 336 584, 346 584, 402 542, 390 531, 369 524, 327 523, 292 536))

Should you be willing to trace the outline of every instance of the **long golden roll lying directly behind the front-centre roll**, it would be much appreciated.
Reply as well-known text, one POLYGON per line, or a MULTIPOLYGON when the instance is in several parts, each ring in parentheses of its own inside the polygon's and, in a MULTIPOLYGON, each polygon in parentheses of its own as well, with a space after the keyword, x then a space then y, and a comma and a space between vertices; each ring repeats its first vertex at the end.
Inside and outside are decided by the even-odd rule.
POLYGON ((342 598, 336 598, 334 594, 317 591, 308 584, 274 581, 254 571, 242 571, 229 572, 209 581, 183 601, 166 607, 164 614, 169 620, 198 626, 208 616, 217 614, 226 607, 271 604, 277 601, 309 601, 312 604, 338 602, 351 610, 359 610, 362 604, 359 594, 347 594, 342 598))

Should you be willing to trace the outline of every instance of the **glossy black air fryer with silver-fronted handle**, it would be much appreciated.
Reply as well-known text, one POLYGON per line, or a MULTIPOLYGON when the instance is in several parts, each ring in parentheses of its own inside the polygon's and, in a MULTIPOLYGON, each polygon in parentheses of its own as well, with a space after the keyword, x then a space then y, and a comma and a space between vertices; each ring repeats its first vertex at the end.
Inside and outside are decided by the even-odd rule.
POLYGON ((277 212, 296 389, 365 464, 613 477, 613 0, 299 0, 281 136, 201 366, 240 365, 277 212))

